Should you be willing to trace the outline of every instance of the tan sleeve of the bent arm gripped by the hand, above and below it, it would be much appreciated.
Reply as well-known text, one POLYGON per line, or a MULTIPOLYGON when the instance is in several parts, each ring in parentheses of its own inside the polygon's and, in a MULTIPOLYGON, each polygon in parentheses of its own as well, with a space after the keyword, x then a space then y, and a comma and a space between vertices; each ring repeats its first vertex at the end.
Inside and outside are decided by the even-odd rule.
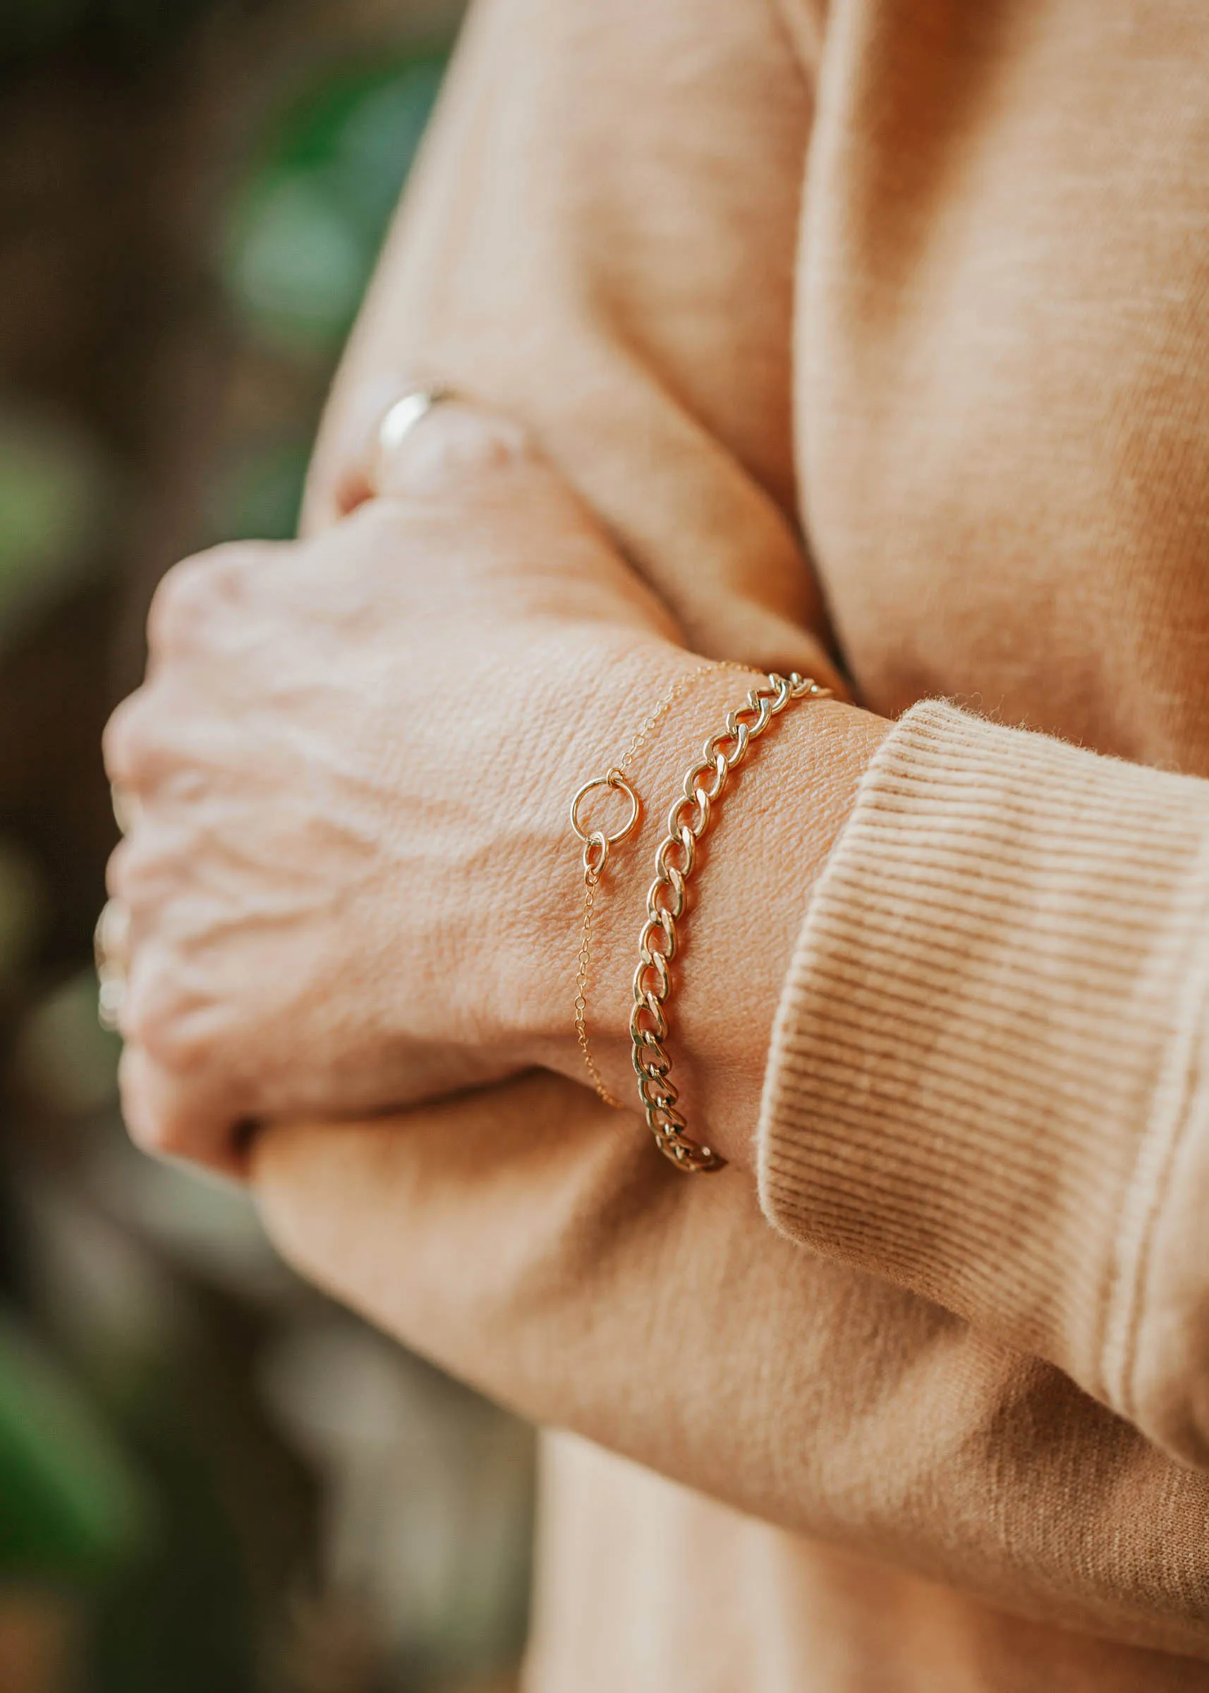
MULTIPOLYGON (((445 376, 533 428, 696 650, 826 676, 789 425, 809 124, 774 5, 479 5, 334 416, 391 366, 445 376)), ((811 1119, 772 1114, 767 1148, 811 1119)), ((1053 1365, 804 1251, 787 1188, 796 1239, 748 1182, 686 1182, 554 1077, 257 1146, 290 1256, 527 1415, 1011 1610, 1209 1659, 1209 1481, 1053 1365)))

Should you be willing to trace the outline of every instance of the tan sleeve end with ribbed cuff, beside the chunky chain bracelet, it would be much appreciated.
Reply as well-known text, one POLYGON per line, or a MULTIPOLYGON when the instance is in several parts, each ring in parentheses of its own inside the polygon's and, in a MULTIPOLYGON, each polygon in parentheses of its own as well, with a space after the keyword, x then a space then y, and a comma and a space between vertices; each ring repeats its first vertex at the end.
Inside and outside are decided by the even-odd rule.
POLYGON ((1209 782, 916 706, 789 968, 765 1214, 1209 1464, 1207 989, 1209 782))

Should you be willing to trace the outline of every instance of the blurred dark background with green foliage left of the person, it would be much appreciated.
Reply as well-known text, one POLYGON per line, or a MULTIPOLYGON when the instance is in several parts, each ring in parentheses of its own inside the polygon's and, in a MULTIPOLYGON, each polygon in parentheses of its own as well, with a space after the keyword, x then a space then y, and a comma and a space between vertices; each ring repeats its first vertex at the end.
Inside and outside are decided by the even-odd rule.
POLYGON ((291 533, 457 0, 0 0, 0 1693, 488 1693, 532 1439, 137 1155, 98 736, 157 576, 291 533))

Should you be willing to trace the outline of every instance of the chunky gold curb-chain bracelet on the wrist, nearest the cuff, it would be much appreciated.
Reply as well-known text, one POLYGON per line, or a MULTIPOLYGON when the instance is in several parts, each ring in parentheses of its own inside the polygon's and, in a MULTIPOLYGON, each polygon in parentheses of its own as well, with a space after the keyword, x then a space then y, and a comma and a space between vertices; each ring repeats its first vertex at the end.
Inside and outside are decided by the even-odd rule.
POLYGON ((676 923, 684 914, 687 879, 693 875, 696 846, 709 828, 713 806, 721 799, 730 774, 747 757, 754 740, 767 730, 786 706, 799 699, 830 699, 831 689, 820 687, 794 670, 791 676, 770 672, 767 686, 750 689, 747 704, 726 713, 726 728, 713 735, 701 760, 684 777, 684 797, 667 814, 667 835, 655 853, 655 880, 647 894, 647 921, 638 938, 638 968, 633 973, 633 1011, 630 1040, 638 1099, 655 1144, 665 1158, 684 1172, 721 1170, 726 1163, 709 1146, 687 1134, 684 1114, 677 1111, 679 1089, 671 1078, 667 1056, 665 1004, 672 992, 669 965, 676 957, 676 923), (713 772, 709 786, 703 777, 713 772), (679 853, 679 863, 669 855, 679 853))

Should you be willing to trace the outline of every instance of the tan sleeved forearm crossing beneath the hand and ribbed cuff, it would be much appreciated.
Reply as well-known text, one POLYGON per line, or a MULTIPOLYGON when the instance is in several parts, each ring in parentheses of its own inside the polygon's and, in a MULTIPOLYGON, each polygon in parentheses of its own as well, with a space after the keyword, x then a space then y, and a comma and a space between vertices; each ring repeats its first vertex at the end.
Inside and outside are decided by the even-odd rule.
POLYGON ((1009 1612, 1209 1659, 1209 1483, 1052 1365, 769 1229, 533 1077, 266 1131, 306 1275, 445 1368, 781 1527, 1009 1612), (1060 1514, 1060 1524, 1057 1515, 1060 1514))

